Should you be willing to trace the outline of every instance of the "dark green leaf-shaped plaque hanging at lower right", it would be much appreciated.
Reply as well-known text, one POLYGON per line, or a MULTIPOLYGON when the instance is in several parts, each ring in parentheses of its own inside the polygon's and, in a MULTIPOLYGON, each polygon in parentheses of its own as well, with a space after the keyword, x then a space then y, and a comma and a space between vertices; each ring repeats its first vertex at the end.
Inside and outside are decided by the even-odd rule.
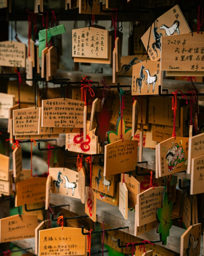
POLYGON ((157 233, 160 234, 160 240, 162 240, 162 244, 167 244, 167 237, 169 236, 169 230, 172 227, 172 209, 173 203, 172 201, 168 201, 168 195, 166 191, 163 191, 162 194, 162 208, 157 209, 156 217, 157 217, 157 233))

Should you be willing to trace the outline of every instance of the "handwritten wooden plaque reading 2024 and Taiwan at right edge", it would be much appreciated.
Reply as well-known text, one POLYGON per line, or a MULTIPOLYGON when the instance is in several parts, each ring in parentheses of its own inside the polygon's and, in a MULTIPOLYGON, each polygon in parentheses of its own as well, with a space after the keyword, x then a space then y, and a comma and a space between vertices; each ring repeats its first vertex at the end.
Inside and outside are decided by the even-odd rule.
POLYGON ((204 71, 204 35, 187 33, 162 38, 161 70, 204 71))

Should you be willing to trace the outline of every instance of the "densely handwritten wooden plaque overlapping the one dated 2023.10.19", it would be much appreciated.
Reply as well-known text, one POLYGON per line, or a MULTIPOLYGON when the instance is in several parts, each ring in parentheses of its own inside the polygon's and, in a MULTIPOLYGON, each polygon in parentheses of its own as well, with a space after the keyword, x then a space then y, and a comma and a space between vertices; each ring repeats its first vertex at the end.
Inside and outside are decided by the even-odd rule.
POLYGON ((83 128, 83 101, 42 100, 42 127, 83 128))

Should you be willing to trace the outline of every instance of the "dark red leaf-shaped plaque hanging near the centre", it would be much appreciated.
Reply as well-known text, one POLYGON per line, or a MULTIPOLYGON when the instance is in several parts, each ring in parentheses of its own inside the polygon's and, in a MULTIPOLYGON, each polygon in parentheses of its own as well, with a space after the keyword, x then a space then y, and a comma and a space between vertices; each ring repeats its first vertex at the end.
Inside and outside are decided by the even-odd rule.
POLYGON ((97 127, 95 135, 98 136, 98 143, 103 147, 104 141, 106 141, 106 132, 111 130, 111 117, 112 110, 108 110, 106 98, 102 99, 101 102, 102 111, 96 112, 97 127))

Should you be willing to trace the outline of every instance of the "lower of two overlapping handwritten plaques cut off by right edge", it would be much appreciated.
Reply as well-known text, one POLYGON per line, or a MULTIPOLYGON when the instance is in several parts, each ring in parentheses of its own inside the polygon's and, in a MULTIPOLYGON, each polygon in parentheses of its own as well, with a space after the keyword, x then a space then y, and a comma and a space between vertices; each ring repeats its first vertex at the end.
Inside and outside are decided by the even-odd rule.
POLYGON ((204 155, 191 159, 190 194, 204 193, 204 155))

